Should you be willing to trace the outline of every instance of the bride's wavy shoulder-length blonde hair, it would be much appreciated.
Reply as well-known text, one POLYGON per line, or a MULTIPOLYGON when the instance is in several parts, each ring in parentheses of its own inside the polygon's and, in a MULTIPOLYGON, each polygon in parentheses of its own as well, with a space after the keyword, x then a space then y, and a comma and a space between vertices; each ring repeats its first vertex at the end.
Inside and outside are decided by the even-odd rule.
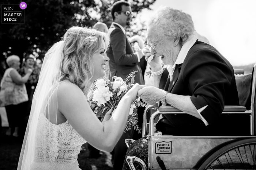
POLYGON ((93 54, 100 49, 102 41, 108 48, 110 37, 104 32, 91 28, 74 26, 68 29, 63 40, 64 51, 60 79, 70 80, 79 86, 84 94, 87 94, 93 76, 93 54))

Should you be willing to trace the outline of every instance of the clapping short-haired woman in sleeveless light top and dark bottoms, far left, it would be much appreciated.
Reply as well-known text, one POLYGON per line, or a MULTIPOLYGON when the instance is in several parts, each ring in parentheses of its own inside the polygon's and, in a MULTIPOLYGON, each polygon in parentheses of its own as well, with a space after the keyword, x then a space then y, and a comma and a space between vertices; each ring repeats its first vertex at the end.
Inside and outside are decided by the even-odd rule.
POLYGON ((6 135, 11 135, 12 128, 15 127, 13 136, 18 136, 20 123, 23 122, 23 104, 28 101, 25 83, 33 70, 28 69, 26 75, 22 77, 17 71, 20 66, 20 59, 17 55, 7 57, 6 62, 10 68, 5 70, 2 79, 0 106, 5 107, 8 117, 9 129, 6 135))

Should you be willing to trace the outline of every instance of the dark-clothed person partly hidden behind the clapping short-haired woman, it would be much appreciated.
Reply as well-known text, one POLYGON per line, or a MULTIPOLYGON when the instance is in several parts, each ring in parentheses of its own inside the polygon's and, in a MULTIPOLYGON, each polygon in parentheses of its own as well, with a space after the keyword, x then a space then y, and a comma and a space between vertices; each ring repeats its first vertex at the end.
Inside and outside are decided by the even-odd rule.
POLYGON ((35 92, 35 87, 37 86, 37 82, 39 79, 40 71, 39 69, 34 69, 35 67, 35 60, 33 57, 27 56, 22 64, 21 69, 19 70, 20 76, 25 76, 29 69, 33 69, 33 72, 30 74, 29 79, 25 83, 27 95, 29 97, 29 101, 27 101, 27 104, 24 105, 24 109, 26 110, 25 116, 28 116, 30 113, 31 105, 32 105, 32 99, 33 94, 35 92))

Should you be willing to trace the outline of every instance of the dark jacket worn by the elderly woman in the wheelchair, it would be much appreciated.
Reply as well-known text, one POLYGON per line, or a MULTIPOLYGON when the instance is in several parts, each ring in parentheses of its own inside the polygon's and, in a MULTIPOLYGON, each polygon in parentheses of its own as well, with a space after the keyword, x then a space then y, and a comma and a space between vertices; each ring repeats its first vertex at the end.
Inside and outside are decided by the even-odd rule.
MULTIPOLYGON (((196 109, 208 105, 200 114, 209 125, 218 119, 224 105, 239 105, 233 66, 219 51, 206 43, 197 40, 183 64, 176 65, 171 82, 168 75, 165 69, 159 88, 173 94, 191 96, 196 109)), ((194 120, 191 115, 184 116, 194 120)), ((182 121, 182 116, 163 117, 174 127, 182 121)))

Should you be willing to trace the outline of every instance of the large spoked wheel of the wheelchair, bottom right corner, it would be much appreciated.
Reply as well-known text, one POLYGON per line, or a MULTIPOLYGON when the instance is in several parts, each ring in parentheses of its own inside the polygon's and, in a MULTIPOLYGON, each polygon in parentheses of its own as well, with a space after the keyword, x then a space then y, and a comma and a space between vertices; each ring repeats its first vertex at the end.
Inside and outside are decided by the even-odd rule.
POLYGON ((200 166, 205 169, 256 169, 256 138, 239 140, 214 152, 200 166))

